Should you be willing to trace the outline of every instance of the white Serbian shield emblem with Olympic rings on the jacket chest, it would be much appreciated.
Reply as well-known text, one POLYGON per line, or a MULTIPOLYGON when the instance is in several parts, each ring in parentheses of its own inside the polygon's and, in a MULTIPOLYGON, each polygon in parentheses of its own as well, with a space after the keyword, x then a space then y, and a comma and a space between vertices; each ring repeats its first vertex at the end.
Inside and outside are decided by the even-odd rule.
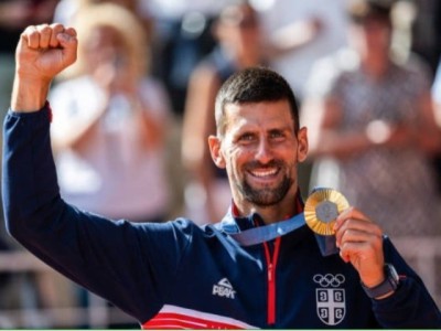
POLYGON ((316 312, 320 320, 327 325, 341 323, 346 314, 345 282, 342 274, 320 275, 312 278, 320 287, 315 288, 316 312))

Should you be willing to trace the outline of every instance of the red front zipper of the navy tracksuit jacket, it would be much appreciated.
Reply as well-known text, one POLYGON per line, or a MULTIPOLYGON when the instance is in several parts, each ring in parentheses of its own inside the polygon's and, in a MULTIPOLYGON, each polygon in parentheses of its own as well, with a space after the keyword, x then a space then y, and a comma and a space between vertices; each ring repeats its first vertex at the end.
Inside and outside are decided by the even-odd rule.
POLYGON ((268 311, 267 323, 269 325, 276 324, 276 266, 279 256, 281 237, 276 238, 275 249, 272 256, 268 247, 268 243, 263 243, 265 257, 267 260, 267 282, 268 282, 268 311))

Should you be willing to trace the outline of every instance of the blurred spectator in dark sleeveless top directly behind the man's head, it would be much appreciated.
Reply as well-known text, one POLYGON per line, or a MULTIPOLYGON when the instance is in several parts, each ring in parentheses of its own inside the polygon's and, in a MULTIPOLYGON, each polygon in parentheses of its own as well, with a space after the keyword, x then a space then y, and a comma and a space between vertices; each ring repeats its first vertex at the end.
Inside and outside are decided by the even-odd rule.
POLYGON ((276 56, 300 49, 320 32, 320 21, 290 28, 292 39, 271 43, 263 36, 258 12, 248 1, 225 7, 213 26, 218 42, 190 77, 182 128, 182 160, 189 180, 184 191, 186 212, 195 222, 217 222, 232 196, 224 170, 211 161, 206 139, 215 132, 214 99, 233 73, 269 65, 276 56))

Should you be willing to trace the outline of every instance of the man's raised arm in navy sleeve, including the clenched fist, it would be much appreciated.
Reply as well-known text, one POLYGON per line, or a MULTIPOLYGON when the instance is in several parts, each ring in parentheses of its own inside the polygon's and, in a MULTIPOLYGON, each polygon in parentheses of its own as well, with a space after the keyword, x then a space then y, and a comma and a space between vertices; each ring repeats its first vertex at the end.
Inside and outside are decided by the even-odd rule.
POLYGON ((60 195, 45 99, 52 78, 75 61, 76 44, 75 31, 60 24, 28 28, 19 42, 3 125, 6 226, 44 263, 144 322, 162 307, 187 235, 171 222, 114 222, 60 195))

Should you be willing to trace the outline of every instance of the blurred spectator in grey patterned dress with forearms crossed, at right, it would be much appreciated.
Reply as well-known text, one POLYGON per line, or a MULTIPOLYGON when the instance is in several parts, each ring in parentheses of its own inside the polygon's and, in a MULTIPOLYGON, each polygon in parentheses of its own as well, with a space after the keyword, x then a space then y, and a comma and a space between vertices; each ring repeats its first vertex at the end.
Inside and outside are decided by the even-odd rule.
POLYGON ((430 166, 440 130, 424 67, 390 53, 390 2, 351 1, 352 49, 323 60, 310 79, 302 122, 312 132, 311 186, 340 188, 378 220, 441 302, 440 196, 430 166))

